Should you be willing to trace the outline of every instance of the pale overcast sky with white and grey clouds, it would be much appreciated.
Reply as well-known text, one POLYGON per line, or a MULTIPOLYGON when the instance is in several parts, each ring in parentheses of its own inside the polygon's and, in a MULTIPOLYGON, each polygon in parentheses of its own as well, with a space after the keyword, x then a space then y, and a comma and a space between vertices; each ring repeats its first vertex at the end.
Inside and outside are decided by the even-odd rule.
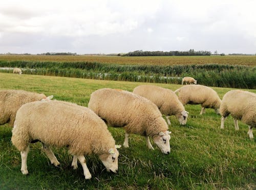
POLYGON ((8 0, 0 53, 256 53, 255 0, 8 0))

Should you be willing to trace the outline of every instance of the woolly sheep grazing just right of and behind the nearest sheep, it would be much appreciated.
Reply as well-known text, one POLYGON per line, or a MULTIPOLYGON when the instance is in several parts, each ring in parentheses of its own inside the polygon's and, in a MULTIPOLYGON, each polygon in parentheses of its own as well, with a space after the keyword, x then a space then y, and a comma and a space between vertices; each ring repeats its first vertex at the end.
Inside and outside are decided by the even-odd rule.
POLYGON ((142 96, 116 89, 99 89, 91 94, 88 107, 113 127, 123 127, 125 140, 123 146, 129 147, 130 133, 145 137, 148 149, 154 150, 148 137, 161 149, 170 152, 170 131, 158 107, 142 96))

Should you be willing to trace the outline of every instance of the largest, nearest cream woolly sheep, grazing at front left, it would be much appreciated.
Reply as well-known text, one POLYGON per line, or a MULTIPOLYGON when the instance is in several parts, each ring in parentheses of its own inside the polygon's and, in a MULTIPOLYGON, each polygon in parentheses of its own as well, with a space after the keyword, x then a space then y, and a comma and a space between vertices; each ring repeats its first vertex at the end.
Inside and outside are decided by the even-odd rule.
POLYGON ((36 101, 24 104, 16 114, 12 130, 12 144, 22 157, 21 171, 28 174, 27 156, 29 144, 40 141, 54 166, 59 162, 49 146, 67 147, 74 155, 72 165, 77 168, 77 158, 86 179, 92 177, 84 154, 97 154, 107 171, 118 170, 118 151, 115 140, 93 111, 74 103, 58 100, 36 101))

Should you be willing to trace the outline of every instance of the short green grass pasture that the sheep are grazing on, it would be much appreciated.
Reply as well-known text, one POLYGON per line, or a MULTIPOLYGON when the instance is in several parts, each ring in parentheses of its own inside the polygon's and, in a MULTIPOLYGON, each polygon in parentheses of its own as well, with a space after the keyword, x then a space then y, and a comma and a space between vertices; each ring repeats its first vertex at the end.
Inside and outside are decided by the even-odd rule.
MULTIPOLYGON (((100 88, 132 91, 144 83, 81 78, 0 73, 0 89, 22 89, 87 106, 90 94, 100 88)), ((154 84, 171 90, 181 85, 154 84)), ((214 88, 220 97, 231 90, 214 88)), ((249 90, 256 93, 256 90, 249 90)), ((156 147, 147 150, 143 137, 131 135, 130 148, 119 149, 117 174, 107 173, 95 155, 86 156, 92 174, 85 180, 82 168, 74 171, 66 149, 53 149, 60 167, 51 165, 39 143, 32 144, 28 155, 29 175, 20 172, 21 158, 12 146, 11 127, 0 126, 0 189, 255 189, 255 138, 247 136, 247 125, 239 121, 234 130, 231 117, 220 130, 220 116, 206 109, 200 116, 199 105, 186 105, 187 124, 180 126, 170 118, 171 152, 164 155, 156 147)), ((53 113, 56 114, 56 113, 53 113)), ((56 115, 57 117, 57 115, 56 115)), ((123 144, 124 130, 109 127, 116 144, 123 144)), ((254 134, 255 136, 256 134, 254 134)))

